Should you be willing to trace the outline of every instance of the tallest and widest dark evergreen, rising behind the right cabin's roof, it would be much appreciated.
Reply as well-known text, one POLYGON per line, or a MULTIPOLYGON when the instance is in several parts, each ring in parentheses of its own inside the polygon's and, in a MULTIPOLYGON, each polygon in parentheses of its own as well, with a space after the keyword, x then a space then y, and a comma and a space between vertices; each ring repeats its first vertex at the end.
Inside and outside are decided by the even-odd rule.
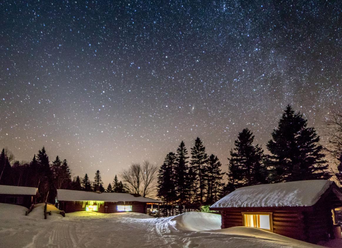
POLYGON ((313 127, 307 127, 307 119, 288 105, 272 132, 267 149, 268 165, 272 168, 273 182, 329 179, 328 165, 318 145, 319 136, 313 127))

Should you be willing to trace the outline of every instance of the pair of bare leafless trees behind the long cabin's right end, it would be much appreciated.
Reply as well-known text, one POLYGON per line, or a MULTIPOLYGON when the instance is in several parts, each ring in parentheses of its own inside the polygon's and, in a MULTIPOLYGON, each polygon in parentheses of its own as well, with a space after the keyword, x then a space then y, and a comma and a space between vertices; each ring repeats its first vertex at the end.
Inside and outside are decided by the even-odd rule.
POLYGON ((131 164, 128 169, 120 174, 120 177, 127 184, 131 193, 145 197, 155 189, 157 171, 157 166, 144 161, 143 165, 139 163, 131 164))

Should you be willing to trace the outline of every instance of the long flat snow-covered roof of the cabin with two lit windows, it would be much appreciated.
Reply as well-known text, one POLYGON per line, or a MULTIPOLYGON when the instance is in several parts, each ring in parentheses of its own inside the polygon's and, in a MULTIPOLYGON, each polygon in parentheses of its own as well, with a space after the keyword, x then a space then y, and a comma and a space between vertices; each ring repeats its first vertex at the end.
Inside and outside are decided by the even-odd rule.
POLYGON ((57 190, 59 201, 140 201, 143 203, 162 203, 160 200, 138 196, 128 193, 96 193, 77 190, 57 190))

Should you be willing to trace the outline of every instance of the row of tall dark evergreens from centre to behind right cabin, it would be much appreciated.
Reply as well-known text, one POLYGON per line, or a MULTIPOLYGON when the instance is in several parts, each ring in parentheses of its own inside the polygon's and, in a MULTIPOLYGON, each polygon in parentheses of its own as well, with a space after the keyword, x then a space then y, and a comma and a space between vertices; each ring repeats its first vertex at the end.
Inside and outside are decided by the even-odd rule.
POLYGON ((199 138, 191 148, 191 156, 182 141, 176 153, 168 153, 160 167, 157 195, 167 204, 182 208, 210 205, 243 186, 331 177, 316 130, 307 127, 307 119, 290 105, 266 145, 270 154, 253 141, 248 128, 239 132, 228 158, 227 180, 219 159, 214 154, 207 155, 199 138))

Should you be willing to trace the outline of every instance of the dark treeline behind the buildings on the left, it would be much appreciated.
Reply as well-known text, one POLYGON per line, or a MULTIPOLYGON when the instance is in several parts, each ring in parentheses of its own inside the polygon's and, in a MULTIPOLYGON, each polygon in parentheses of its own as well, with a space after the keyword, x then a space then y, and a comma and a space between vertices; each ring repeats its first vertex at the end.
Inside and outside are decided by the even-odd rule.
POLYGON ((113 183, 107 189, 103 187, 100 171, 95 172, 94 181, 90 181, 88 174, 71 179, 71 172, 66 159, 56 157, 50 163, 49 156, 43 147, 35 154, 32 161, 19 162, 14 160, 10 151, 2 149, 0 154, 0 184, 26 186, 38 188, 38 202, 55 202, 57 189, 83 190, 100 192, 126 193, 126 184, 118 180, 115 175, 113 183), (12 164, 12 165, 11 165, 12 164))

